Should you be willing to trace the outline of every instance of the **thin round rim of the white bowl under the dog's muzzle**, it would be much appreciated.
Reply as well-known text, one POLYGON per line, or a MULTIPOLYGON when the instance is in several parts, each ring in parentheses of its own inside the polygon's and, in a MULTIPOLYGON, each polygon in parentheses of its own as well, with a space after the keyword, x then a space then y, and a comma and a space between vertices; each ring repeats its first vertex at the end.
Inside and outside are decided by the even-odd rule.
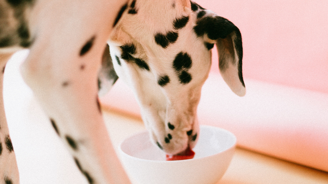
MULTIPOLYGON (((138 133, 135 133, 129 137, 127 137, 126 139, 124 139, 120 144, 119 144, 119 147, 118 147, 118 150, 119 150, 119 153, 120 154, 123 154, 125 156, 128 156, 134 160, 140 160, 142 162, 151 162, 151 163, 178 163, 178 162, 190 162, 191 160, 201 160, 201 159, 208 159, 210 157, 213 157, 213 156, 216 156, 218 154, 222 154, 224 152, 227 152, 231 149, 235 149, 236 145, 237 145, 237 137, 235 134, 233 134, 232 132, 226 130, 226 129, 223 129, 223 128, 220 128, 220 127, 216 127, 216 126, 211 126, 211 125, 200 125, 199 128, 216 128, 216 129, 219 129, 220 131, 224 131, 228 134, 230 134, 232 136, 232 138, 234 139, 234 143, 227 149, 224 149, 223 151, 220 151, 218 153, 215 153, 215 154, 212 154, 212 155, 208 155, 208 156, 204 156, 204 157, 200 157, 200 158, 193 158, 193 159, 185 159, 185 160, 170 160, 169 162, 167 160, 151 160, 151 159, 144 159, 144 158, 138 158, 138 157, 135 157, 135 156, 131 156, 129 155, 128 153, 124 152, 121 147, 122 147, 122 144, 124 144, 124 142, 127 140, 127 139, 130 139, 130 137, 133 137, 133 136, 136 136, 136 135, 139 135, 139 134, 143 134, 143 133, 148 133, 147 130, 145 131, 141 131, 141 132, 138 132, 138 133)), ((122 155, 121 155, 122 156, 122 155)))

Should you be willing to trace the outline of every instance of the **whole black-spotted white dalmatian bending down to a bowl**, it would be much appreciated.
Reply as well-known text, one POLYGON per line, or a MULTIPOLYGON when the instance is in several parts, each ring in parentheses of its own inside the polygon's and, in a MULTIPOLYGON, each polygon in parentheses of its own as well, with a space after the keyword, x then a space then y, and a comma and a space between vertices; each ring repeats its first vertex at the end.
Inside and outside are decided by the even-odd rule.
MULTIPOLYGON (((155 145, 171 155, 193 148, 214 44, 223 79, 243 96, 239 29, 189 0, 0 0, 0 89, 8 59, 29 48, 22 76, 77 169, 89 183, 131 183, 110 142, 98 95, 119 76, 133 89, 155 145)), ((0 183, 16 184, 0 94, 0 183)))

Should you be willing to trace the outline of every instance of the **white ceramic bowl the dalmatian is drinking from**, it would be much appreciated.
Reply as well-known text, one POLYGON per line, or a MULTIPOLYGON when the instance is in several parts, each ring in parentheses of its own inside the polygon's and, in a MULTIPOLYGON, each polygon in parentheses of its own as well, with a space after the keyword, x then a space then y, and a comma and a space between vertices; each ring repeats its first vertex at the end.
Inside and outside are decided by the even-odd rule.
POLYGON ((148 132, 133 135, 120 144, 119 151, 128 175, 137 184, 215 184, 233 157, 236 137, 212 126, 200 126, 193 159, 166 161, 148 132))

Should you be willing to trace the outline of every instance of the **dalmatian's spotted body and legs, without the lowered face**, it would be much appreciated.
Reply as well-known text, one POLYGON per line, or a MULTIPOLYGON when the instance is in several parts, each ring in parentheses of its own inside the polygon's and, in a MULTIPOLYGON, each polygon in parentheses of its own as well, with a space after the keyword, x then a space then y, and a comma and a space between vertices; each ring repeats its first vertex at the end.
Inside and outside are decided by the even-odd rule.
MULTIPOLYGON (((128 9, 136 14, 135 5, 128 0, 0 0, 0 90, 10 56, 30 48, 22 76, 89 183, 130 183, 108 146, 98 95, 118 79, 106 41, 128 9), (90 125, 96 125, 92 131, 90 125), (105 138, 97 143, 99 136, 105 138), (114 171, 110 164, 115 165, 114 171)), ((5 117, 0 94, 0 117, 5 117)), ((0 183, 19 183, 14 145, 3 118, 0 167, 0 183)))

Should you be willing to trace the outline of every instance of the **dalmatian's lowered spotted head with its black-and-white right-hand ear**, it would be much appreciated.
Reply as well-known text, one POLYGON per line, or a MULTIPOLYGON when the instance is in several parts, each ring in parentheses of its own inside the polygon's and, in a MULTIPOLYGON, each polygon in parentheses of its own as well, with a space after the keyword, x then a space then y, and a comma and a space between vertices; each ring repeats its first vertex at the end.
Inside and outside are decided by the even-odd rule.
POLYGON ((154 144, 168 154, 197 142, 197 106, 214 44, 223 79, 234 93, 245 94, 239 29, 194 2, 133 0, 108 43, 154 144))

